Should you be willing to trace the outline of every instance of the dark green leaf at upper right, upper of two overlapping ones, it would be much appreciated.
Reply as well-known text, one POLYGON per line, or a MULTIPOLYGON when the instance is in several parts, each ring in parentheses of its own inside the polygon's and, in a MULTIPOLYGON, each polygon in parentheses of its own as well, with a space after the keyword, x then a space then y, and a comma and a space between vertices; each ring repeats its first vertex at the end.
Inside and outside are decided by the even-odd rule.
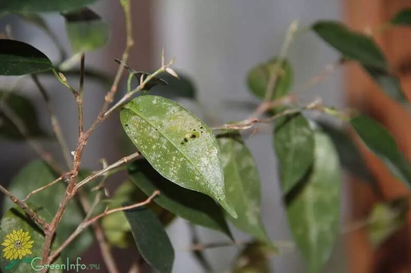
POLYGON ((334 21, 320 21, 312 29, 330 46, 340 51, 345 58, 359 61, 361 64, 386 71, 388 63, 384 54, 371 37, 349 30, 334 21))

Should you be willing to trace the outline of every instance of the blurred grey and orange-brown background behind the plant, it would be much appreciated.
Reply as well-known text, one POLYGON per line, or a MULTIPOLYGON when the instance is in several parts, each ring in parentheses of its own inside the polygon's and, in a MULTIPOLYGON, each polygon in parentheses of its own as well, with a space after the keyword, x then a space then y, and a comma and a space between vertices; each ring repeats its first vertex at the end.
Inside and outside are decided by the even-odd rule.
MULTIPOLYGON (((337 19, 345 21, 356 29, 364 30, 384 22, 399 8, 410 4, 409 1, 404 0, 134 0, 132 8, 136 44, 132 49, 128 65, 136 70, 153 71, 161 65, 161 49, 164 48, 167 59, 172 56, 176 57, 173 68, 188 76, 196 87, 201 104, 189 100, 180 101, 184 106, 203 117, 210 125, 242 120, 250 114, 251 108, 239 107, 239 104, 247 102, 255 103, 256 106, 258 103, 247 89, 247 72, 259 62, 278 54, 287 28, 293 20, 297 20, 301 31, 298 31, 293 39, 288 59, 294 70, 293 85, 299 86, 339 57, 336 51, 306 29, 310 24, 318 19, 337 19)), ((109 23, 111 36, 109 43, 103 49, 86 54, 86 66, 114 75, 118 67, 114 58, 121 57, 125 45, 121 7, 117 1, 100 0, 92 5, 91 9, 109 23)), ((65 45, 67 52, 70 52, 64 32, 63 17, 44 15, 50 28, 61 40, 62 45, 65 45)), ((46 53, 50 59, 58 61, 58 50, 40 29, 15 16, 0 19, 0 30, 5 31, 6 26, 10 27, 15 39, 33 45, 46 53)), ((392 40, 405 38, 403 35, 393 35, 393 33, 382 35, 379 43, 386 50, 389 59, 399 61, 402 58, 400 57, 402 52, 407 49, 399 49, 402 47, 397 47, 398 43, 392 40)), ((408 35, 409 38, 411 36, 408 35)), ((407 44, 409 45, 409 42, 407 44)), ((409 51, 411 49, 408 46, 408 53, 409 51)), ((394 66, 396 67, 396 64, 394 66)), ((2 87, 13 88, 16 78, 1 77, 0 80, 2 87)), ((72 95, 53 77, 44 76, 40 80, 50 92, 70 149, 74 150, 77 141, 77 109, 72 95)), ((40 110, 43 128, 51 131, 47 111, 40 94, 33 91, 34 86, 29 80, 27 83, 19 84, 22 85, 21 92, 32 98, 40 110)), ((342 108, 347 104, 361 107, 373 116, 382 119, 387 126, 393 126, 393 134, 398 137, 400 146, 404 149, 410 148, 411 145, 407 144, 409 140, 407 142, 403 137, 403 130, 406 129, 395 125, 394 118, 390 118, 385 112, 381 113, 383 107, 381 103, 384 103, 386 108, 393 108, 393 111, 397 111, 396 106, 385 97, 370 97, 367 93, 375 88, 369 79, 358 71, 358 68, 350 67, 347 73, 337 69, 314 88, 301 90, 298 96, 306 102, 321 97, 325 105, 337 108, 342 108), (385 100, 388 102, 384 102, 385 100)), ((107 87, 101 83, 86 78, 84 104, 86 125, 89 125, 96 117, 107 90, 107 87)), ((401 112, 395 113, 401 115, 401 112)), ((100 158, 114 162, 134 152, 122 149, 122 132, 117 115, 111 116, 108 121, 104 122, 88 141, 83 157, 84 166, 97 170, 100 167, 100 158)), ((295 248, 290 247, 292 238, 279 191, 271 132, 263 128, 258 134, 249 137, 246 142, 256 160, 261 178, 263 221, 271 239, 281 241, 284 245, 283 254, 272 259, 273 269, 275 272, 305 272, 302 258, 295 248)), ((51 151, 58 151, 57 144, 50 141, 43 143, 51 151)), ((30 159, 36 158, 31 149, 20 142, 1 139, 0 151, 2 151, 0 182, 3 184, 7 184, 18 169, 30 159)), ((407 151, 411 151, 411 148, 407 151)), ((372 170, 378 173, 382 168, 378 165, 379 162, 375 158, 369 158, 369 160, 373 166, 372 170)), ((382 171, 382 174, 378 175, 382 177, 381 181, 390 179, 387 172, 382 171)), ((123 179, 124 176, 121 175, 111 179, 111 190, 123 179)), ((356 217, 366 215, 372 202, 376 200, 371 193, 367 192, 366 187, 356 185, 350 177, 345 176, 342 225, 349 224, 356 217), (356 208, 350 209, 351 207, 356 208), (357 207, 360 208, 357 209, 357 207)), ((387 186, 385 197, 394 198, 403 191, 404 189, 394 182, 394 186, 393 184, 387 186)), ((179 219, 167 228, 167 233, 176 250, 174 272, 201 272, 201 268, 187 250, 191 244, 187 223, 179 219)), ((217 232, 204 228, 199 228, 199 234, 203 242, 226 240, 217 232)), ((239 241, 248 238, 236 231, 234 236, 239 241)), ((406 238, 405 242, 408 242, 408 233, 405 232, 402 236, 406 238)), ((361 231, 358 234, 343 234, 324 271, 337 273, 349 271, 411 272, 411 269, 407 267, 409 264, 407 259, 403 267, 397 268, 398 271, 378 271, 375 264, 379 258, 375 258, 363 237, 361 231), (350 243, 351 241, 354 243, 350 243), (352 264, 355 265, 349 266, 352 264)), ((402 249, 401 246, 399 249, 402 249)), ((97 247, 94 246, 86 255, 96 251, 98 251, 97 247)), ((206 250, 205 253, 213 261, 217 271, 222 272, 230 267, 230 261, 235 257, 237 249, 221 247, 206 250)), ((409 257, 409 249, 407 254, 409 257)), ((122 257, 121 255, 124 253, 120 251, 118 257, 122 257)), ((98 254, 95 255, 95 257, 98 256, 98 254)), ((91 261, 93 257, 87 259, 95 262, 91 261)))

